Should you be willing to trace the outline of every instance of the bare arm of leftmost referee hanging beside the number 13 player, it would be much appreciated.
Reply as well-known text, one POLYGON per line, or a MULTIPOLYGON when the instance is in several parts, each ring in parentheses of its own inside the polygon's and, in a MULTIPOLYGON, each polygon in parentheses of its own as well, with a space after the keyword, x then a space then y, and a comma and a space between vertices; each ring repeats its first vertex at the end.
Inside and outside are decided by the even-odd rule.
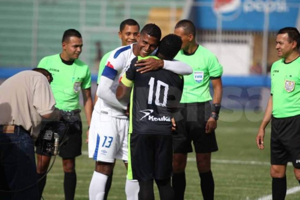
MULTIPOLYGON (((84 105, 86 121, 88 122, 88 126, 90 126, 92 112, 93 112, 93 100, 91 96, 91 88, 82 89, 82 97, 83 97, 83 105, 84 105)), ((88 143, 88 130, 86 131, 85 142, 88 143)))

